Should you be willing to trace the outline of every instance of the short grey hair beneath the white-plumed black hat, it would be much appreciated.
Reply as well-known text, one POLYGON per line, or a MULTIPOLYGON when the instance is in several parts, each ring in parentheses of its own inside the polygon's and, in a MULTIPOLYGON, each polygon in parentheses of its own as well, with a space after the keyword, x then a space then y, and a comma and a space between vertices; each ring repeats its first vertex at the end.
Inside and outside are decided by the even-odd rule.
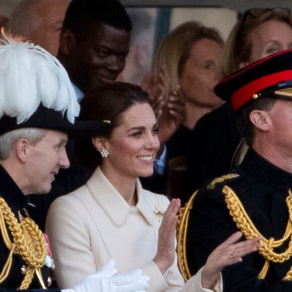
POLYGON ((7 132, 0 136, 0 160, 9 158, 10 153, 17 140, 26 138, 32 145, 39 142, 48 130, 38 128, 23 128, 7 132))

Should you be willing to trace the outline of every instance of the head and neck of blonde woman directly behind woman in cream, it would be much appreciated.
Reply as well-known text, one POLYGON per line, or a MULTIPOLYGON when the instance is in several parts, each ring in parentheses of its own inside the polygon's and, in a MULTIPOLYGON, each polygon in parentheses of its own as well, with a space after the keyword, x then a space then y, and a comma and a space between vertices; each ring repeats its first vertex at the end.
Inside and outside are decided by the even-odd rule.
POLYGON ((203 114, 222 104, 213 88, 218 82, 223 44, 214 28, 187 22, 171 31, 156 52, 152 97, 162 95, 166 101, 179 91, 186 102, 183 125, 187 128, 192 129, 203 114))

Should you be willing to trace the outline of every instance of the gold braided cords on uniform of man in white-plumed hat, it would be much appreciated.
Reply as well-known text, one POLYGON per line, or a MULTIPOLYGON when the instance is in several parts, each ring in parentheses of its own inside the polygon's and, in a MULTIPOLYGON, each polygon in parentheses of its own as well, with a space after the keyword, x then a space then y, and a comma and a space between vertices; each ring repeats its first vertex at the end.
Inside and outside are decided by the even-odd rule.
MULTIPOLYGON (((27 289, 34 273, 37 271, 39 275, 39 268, 45 263, 47 247, 42 232, 29 217, 24 218, 19 223, 11 208, 2 197, 0 197, 0 230, 4 243, 10 250, 8 259, 0 273, 0 284, 9 275, 13 254, 19 254, 28 265, 20 289, 27 289), (8 229, 12 236, 12 241, 10 240, 8 229)), ((39 280, 42 282, 42 279, 39 278, 39 280)))

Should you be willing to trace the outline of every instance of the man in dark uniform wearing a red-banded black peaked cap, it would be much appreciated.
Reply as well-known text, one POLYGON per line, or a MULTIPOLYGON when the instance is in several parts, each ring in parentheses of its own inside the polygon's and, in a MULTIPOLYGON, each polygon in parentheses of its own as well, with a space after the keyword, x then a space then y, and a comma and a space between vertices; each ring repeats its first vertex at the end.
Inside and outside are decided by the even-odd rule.
MULTIPOLYGON (((190 198, 179 229, 179 236, 186 233, 179 261, 192 275, 234 232, 261 236, 260 251, 223 270, 224 290, 291 291, 292 50, 237 71, 215 93, 231 100, 248 150, 232 173, 190 198)), ((237 256, 236 250, 229 255, 237 256)))

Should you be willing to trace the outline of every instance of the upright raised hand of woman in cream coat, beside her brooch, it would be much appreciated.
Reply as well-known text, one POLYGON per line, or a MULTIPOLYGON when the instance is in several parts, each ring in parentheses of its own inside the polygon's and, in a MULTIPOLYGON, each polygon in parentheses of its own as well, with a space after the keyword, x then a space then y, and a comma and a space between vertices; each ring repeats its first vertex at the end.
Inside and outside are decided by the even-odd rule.
POLYGON ((157 264, 162 274, 164 274, 174 262, 174 239, 179 208, 180 199, 172 199, 164 213, 159 228, 157 254, 153 261, 157 264))

